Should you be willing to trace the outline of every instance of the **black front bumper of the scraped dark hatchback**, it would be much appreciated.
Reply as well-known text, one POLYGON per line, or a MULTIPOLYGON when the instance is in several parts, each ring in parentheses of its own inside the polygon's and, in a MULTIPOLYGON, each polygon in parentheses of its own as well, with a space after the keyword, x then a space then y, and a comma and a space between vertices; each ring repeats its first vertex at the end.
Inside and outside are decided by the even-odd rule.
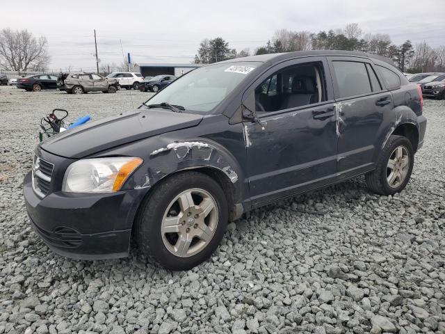
POLYGON ((128 255, 131 226, 147 189, 94 194, 58 191, 40 198, 29 173, 23 191, 31 225, 54 253, 100 260, 128 255))

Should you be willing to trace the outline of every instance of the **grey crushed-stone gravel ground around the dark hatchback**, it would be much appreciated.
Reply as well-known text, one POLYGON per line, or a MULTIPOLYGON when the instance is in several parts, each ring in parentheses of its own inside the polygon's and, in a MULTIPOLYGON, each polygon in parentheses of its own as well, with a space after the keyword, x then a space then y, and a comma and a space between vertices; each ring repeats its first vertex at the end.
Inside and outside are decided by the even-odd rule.
POLYGON ((360 178, 257 209, 188 272, 136 248, 94 262, 51 253, 22 198, 39 118, 102 118, 148 96, 0 87, 0 334, 445 333, 443 101, 426 100, 426 141, 394 197, 360 178))

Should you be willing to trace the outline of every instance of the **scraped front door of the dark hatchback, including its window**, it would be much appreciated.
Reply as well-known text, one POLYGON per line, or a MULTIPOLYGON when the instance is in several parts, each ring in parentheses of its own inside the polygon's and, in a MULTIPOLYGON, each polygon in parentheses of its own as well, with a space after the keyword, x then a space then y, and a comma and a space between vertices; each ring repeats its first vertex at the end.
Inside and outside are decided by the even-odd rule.
POLYGON ((330 82, 325 57, 311 57, 271 68, 246 91, 243 104, 259 117, 244 122, 252 206, 335 180, 330 82))

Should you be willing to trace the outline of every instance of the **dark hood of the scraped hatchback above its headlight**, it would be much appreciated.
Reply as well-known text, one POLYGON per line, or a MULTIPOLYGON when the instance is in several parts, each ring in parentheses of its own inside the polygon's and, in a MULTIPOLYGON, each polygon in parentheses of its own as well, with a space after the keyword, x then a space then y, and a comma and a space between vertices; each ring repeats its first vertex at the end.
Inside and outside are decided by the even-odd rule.
POLYGON ((60 157, 80 159, 132 141, 194 127, 201 120, 202 116, 192 113, 136 109, 61 132, 40 143, 40 148, 60 157))

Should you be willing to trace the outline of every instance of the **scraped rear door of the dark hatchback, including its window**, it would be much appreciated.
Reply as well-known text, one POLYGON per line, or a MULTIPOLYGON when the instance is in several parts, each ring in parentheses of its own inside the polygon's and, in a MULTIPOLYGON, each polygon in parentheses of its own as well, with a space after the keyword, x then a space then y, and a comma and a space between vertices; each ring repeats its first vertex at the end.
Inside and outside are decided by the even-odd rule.
POLYGON ((367 58, 328 57, 334 84, 337 116, 339 178, 374 168, 379 136, 394 107, 375 66, 367 58))

